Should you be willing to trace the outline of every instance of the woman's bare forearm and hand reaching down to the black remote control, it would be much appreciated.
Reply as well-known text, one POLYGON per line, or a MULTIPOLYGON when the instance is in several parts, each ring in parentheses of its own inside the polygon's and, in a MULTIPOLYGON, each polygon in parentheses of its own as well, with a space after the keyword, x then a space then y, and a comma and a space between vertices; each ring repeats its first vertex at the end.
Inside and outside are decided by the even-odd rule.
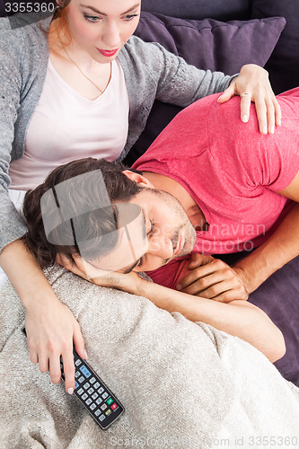
POLYGON ((85 358, 84 339, 73 313, 62 304, 37 260, 21 240, 6 245, 0 263, 26 310, 25 327, 31 362, 48 371, 53 383, 60 382, 60 356, 63 357, 66 392, 75 389, 73 341, 85 358))

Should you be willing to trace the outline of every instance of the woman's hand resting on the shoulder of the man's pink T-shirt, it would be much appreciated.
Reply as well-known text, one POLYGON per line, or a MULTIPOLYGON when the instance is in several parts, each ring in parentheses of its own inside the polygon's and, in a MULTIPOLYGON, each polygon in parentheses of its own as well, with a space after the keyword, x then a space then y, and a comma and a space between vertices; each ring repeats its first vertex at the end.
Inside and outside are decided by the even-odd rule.
POLYGON ((271 84, 268 72, 254 64, 242 66, 231 85, 225 89, 218 101, 224 103, 233 95, 241 96, 241 119, 247 122, 250 117, 251 101, 255 103, 259 121, 259 131, 262 134, 273 134, 275 125, 281 124, 281 110, 271 84))

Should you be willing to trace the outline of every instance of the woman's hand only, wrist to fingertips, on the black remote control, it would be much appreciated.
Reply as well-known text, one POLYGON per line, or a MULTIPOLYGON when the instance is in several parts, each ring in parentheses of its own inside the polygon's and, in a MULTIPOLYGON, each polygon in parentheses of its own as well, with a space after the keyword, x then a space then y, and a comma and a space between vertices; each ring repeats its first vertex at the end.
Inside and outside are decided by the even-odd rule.
MULTIPOLYGON (((54 293, 54 292, 53 292, 54 293)), ((75 390, 73 341, 78 354, 86 358, 84 339, 73 313, 56 297, 26 309, 25 327, 32 363, 41 372, 49 371, 52 383, 60 382, 60 356, 63 358, 66 392, 75 390)))

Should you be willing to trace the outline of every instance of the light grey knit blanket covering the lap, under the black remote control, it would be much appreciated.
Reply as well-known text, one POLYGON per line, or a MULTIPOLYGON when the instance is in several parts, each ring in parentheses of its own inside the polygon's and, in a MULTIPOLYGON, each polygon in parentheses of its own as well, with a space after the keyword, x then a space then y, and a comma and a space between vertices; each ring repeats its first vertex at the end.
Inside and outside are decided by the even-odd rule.
POLYGON ((299 390, 258 350, 64 269, 47 276, 80 322, 88 362, 126 411, 103 431, 63 383, 52 384, 31 364, 24 309, 7 283, 0 296, 1 449, 299 447, 299 390))

